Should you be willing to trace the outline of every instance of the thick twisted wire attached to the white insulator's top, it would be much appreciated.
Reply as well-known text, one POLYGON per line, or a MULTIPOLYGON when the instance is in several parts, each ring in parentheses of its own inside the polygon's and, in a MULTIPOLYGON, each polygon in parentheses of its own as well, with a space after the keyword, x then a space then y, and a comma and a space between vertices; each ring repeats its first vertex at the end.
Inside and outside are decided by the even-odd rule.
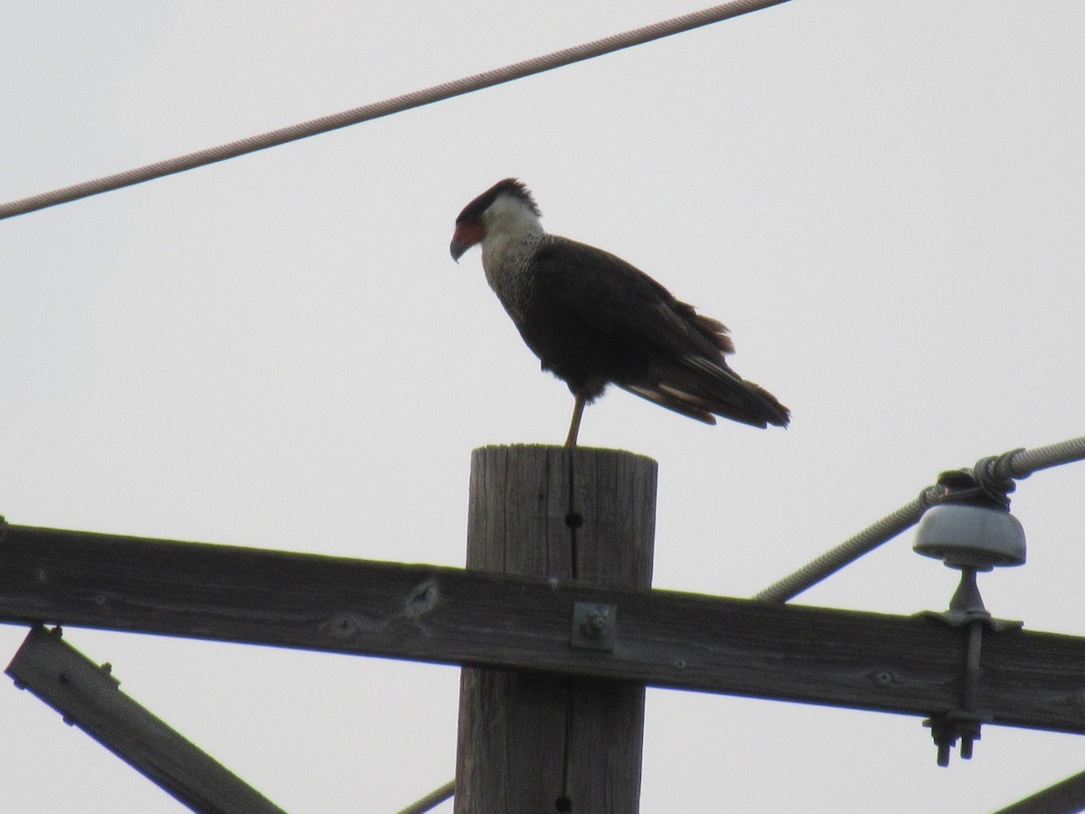
MULTIPOLYGON (((1004 455, 983 458, 973 468, 981 481, 990 478, 1021 480, 1041 469, 1085 459, 1085 435, 1035 449, 1014 449, 1004 455)), ((940 486, 928 486, 919 497, 892 514, 886 514, 835 548, 807 562, 801 569, 754 594, 754 599, 787 602, 806 588, 816 585, 845 565, 869 554, 882 543, 919 522, 929 508, 939 504, 945 493, 940 486)))

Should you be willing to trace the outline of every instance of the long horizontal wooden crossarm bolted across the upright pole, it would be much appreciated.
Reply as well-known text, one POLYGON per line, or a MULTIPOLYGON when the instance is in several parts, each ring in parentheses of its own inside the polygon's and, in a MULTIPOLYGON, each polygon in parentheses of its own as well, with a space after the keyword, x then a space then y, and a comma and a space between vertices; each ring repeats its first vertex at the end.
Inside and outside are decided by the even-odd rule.
MULTIPOLYGON (((23 525, 0 529, 0 621, 922 716, 957 707, 965 663, 961 631, 926 616, 23 525), (613 652, 570 648, 577 601, 617 607, 613 652)), ((993 723, 1085 733, 1085 638, 987 632, 981 666, 993 723)))

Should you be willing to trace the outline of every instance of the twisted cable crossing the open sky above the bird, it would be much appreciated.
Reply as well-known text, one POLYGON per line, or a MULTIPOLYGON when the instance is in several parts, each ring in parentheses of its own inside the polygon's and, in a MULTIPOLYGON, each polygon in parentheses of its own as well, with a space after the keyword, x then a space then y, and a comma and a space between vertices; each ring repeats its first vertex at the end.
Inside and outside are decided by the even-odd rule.
POLYGON ((103 176, 71 187, 62 187, 51 192, 42 192, 37 195, 12 201, 11 203, 0 204, 0 220, 16 215, 25 215, 49 206, 68 203, 80 198, 89 198, 102 192, 131 187, 154 178, 183 173, 187 169, 194 169, 207 164, 226 161, 227 158, 235 158, 239 155, 266 150, 269 147, 285 144, 290 141, 297 141, 309 136, 317 136, 318 133, 348 127, 349 125, 360 124, 361 122, 381 118, 393 113, 411 110, 412 107, 421 107, 425 104, 463 96, 464 93, 501 85, 513 79, 521 79, 525 76, 540 74, 545 71, 563 67, 575 62, 583 62, 592 56, 600 56, 624 48, 639 46, 644 42, 662 39, 663 37, 669 37, 673 34, 700 28, 711 23, 718 23, 723 20, 737 17, 752 11, 767 9, 784 2, 788 2, 788 0, 730 0, 730 2, 720 3, 710 9, 672 17, 671 20, 653 23, 641 28, 634 28, 623 34, 611 35, 610 37, 597 39, 580 46, 554 51, 544 56, 536 56, 531 60, 506 65, 505 67, 486 71, 482 74, 474 74, 461 79, 434 85, 423 90, 385 99, 382 102, 374 102, 361 107, 343 111, 342 113, 333 113, 329 116, 321 116, 320 118, 314 118, 290 127, 282 127, 259 136, 250 136, 248 138, 231 141, 218 147, 179 155, 175 158, 146 164, 135 169, 103 176))

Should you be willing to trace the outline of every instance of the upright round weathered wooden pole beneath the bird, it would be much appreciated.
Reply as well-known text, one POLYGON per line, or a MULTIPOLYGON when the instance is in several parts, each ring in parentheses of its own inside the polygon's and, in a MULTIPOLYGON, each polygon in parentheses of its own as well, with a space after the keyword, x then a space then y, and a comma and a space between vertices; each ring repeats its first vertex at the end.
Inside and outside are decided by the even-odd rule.
MULTIPOLYGON (((655 475, 613 449, 475 449, 467 567, 648 588, 655 475)), ((643 722, 642 685, 464 667, 456 814, 635 814, 643 722)))

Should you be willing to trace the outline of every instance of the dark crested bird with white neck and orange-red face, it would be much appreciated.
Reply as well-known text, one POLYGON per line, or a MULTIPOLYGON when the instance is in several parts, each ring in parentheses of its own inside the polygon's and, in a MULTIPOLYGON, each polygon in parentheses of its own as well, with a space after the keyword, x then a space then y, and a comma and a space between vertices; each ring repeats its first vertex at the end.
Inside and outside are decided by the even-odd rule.
POLYGON ((776 396, 727 364, 728 329, 698 314, 624 259, 548 233, 528 188, 498 181, 456 218, 452 259, 482 244, 486 280, 520 335, 569 385, 575 403, 565 438, 575 447, 586 405, 609 384, 707 424, 716 416, 787 427, 776 396))

